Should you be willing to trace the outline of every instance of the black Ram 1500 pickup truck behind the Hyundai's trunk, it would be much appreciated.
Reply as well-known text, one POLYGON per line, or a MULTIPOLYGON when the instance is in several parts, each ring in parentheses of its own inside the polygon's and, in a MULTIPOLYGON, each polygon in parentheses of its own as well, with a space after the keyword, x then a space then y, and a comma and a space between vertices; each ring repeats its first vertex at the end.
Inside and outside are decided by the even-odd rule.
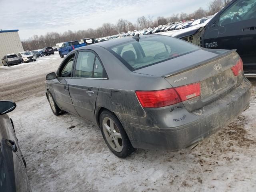
POLYGON ((205 26, 172 36, 204 48, 236 49, 245 75, 256 77, 256 0, 232 0, 205 26))

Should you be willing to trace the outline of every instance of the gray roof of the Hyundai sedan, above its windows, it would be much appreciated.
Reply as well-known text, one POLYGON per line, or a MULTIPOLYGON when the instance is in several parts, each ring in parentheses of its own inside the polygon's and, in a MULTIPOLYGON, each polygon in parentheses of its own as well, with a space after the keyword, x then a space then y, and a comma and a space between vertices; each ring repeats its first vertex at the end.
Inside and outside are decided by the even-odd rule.
MULTIPOLYGON (((140 38, 148 38, 148 37, 153 37, 153 36, 160 36, 160 34, 150 34, 150 35, 141 35, 139 36, 140 38)), ((103 41, 103 42, 99 42, 96 44, 91 44, 88 46, 100 46, 103 48, 109 48, 118 44, 122 44, 122 43, 126 43, 126 42, 130 42, 130 41, 136 41, 136 39, 134 39, 133 37, 125 37, 125 38, 117 38, 117 39, 113 39, 113 40, 108 40, 108 41, 103 41)), ((86 46, 86 47, 88 47, 86 46)), ((84 47, 80 47, 76 50, 80 50, 80 49, 84 49, 84 47)))

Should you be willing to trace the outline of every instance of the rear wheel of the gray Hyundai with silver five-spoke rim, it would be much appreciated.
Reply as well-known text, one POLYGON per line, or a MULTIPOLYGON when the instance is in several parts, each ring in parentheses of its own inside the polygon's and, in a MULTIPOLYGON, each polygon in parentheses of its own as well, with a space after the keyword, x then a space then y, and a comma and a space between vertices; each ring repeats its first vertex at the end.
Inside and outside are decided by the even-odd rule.
POLYGON ((108 148, 119 158, 126 158, 134 152, 121 122, 112 112, 104 110, 100 114, 100 130, 108 148))

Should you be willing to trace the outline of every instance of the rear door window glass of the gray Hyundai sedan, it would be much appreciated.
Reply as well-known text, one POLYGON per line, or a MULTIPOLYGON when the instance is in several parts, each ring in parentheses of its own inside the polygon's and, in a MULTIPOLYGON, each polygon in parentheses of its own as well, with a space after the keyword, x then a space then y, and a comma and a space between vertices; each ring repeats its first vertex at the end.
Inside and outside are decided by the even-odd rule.
POLYGON ((103 67, 100 60, 92 52, 82 51, 78 53, 76 61, 75 77, 77 78, 102 78, 103 67))

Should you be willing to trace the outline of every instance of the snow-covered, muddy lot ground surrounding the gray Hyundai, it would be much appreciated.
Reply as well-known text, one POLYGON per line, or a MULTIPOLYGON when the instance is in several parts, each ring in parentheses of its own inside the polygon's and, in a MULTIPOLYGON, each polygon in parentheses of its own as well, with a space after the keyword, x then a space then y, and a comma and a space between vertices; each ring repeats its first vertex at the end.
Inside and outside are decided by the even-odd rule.
POLYGON ((256 80, 251 105, 233 123, 193 150, 137 150, 119 159, 99 128, 64 114, 54 116, 44 94, 46 74, 58 54, 0 67, 0 99, 14 100, 14 121, 33 191, 212 191, 256 190, 256 80))

